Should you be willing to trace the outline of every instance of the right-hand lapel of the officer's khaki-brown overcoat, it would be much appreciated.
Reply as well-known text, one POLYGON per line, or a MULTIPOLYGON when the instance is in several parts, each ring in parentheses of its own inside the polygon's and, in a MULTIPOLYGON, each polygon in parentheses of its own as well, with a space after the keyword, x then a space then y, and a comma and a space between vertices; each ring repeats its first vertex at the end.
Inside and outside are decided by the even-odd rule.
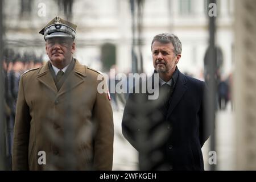
POLYGON ((57 94, 57 97, 84 82, 84 77, 86 77, 86 69, 87 68, 84 65, 80 64, 79 61, 76 60, 74 69, 71 71, 71 73, 69 73, 67 80, 64 81, 57 94))

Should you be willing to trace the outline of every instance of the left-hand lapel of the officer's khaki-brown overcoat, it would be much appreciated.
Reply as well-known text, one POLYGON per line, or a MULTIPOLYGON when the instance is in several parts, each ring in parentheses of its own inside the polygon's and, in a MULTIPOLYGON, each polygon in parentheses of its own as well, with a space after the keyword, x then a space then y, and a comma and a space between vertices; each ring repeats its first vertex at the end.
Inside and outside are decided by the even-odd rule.
POLYGON ((37 79, 42 82, 42 84, 46 85, 49 89, 51 89, 53 92, 57 93, 57 88, 49 70, 48 63, 46 63, 41 69, 39 69, 37 79))

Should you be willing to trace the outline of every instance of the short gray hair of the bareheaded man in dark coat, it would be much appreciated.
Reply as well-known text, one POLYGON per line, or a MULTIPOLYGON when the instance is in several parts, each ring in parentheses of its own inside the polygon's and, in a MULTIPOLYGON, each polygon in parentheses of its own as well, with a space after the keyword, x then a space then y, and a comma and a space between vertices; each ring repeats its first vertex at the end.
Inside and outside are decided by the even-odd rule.
POLYGON ((174 34, 168 34, 168 33, 162 33, 154 36, 152 43, 151 43, 151 50, 152 50, 152 45, 155 41, 158 41, 163 44, 168 44, 172 43, 174 45, 174 53, 175 55, 181 54, 182 51, 182 44, 180 42, 180 39, 174 35, 174 34))

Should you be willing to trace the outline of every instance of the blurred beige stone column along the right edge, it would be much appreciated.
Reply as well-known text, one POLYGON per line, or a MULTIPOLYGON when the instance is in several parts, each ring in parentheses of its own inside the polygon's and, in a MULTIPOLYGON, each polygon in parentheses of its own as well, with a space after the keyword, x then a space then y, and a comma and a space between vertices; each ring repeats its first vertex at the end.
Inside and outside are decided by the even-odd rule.
POLYGON ((235 2, 237 169, 256 170, 256 1, 235 2))

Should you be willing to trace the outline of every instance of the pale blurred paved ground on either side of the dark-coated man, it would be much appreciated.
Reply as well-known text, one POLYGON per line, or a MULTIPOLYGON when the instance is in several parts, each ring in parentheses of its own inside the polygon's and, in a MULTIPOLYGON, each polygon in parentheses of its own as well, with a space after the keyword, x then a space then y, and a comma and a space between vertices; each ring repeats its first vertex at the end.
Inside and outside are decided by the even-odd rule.
MULTIPOLYGON (((114 159, 113 170, 137 170, 138 153, 123 138, 121 132, 121 121, 123 108, 113 110, 114 113, 114 159)), ((217 154, 217 170, 234 170, 235 168, 235 122, 230 104, 225 111, 218 111, 216 117, 216 154, 217 154)), ((209 140, 205 142, 203 147, 205 170, 209 170, 208 153, 209 140)))

